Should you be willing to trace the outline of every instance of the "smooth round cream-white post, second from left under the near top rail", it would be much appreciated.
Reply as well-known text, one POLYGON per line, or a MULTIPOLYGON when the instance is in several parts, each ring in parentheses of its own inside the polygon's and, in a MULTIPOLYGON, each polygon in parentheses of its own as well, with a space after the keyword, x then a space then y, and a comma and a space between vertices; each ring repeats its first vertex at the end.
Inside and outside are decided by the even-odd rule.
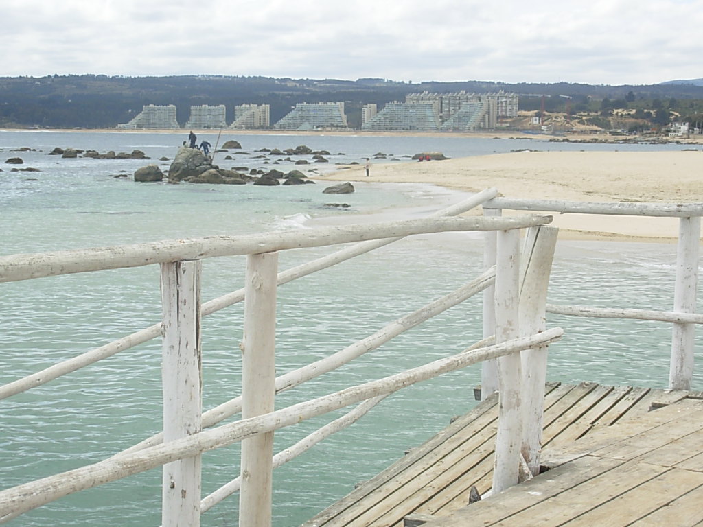
MULTIPOLYGON (((250 254, 244 299, 242 418, 273 412, 278 253, 250 254)), ((240 527, 271 527, 273 432, 242 441, 240 527)))

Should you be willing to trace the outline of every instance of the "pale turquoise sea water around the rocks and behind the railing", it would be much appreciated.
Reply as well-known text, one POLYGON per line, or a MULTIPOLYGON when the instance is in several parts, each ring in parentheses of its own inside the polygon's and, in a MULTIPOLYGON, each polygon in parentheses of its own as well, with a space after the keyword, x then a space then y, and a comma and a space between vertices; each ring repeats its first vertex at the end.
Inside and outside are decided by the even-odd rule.
MULTIPOLYGON (((335 196, 348 209, 330 208, 327 183, 292 187, 137 184, 129 178, 143 160, 63 160, 61 148, 131 152, 152 160, 173 157, 186 136, 88 132, 0 132, 0 161, 22 157, 39 172, 11 171, 1 164, 0 254, 95 247, 205 235, 306 229, 318 220, 353 223, 389 210, 417 217, 465 195, 419 185, 356 185, 335 196), (30 152, 14 151, 20 147, 30 152), (36 180, 36 181, 34 181, 36 180)), ((204 136, 213 145, 217 134, 204 136)), ((333 152, 330 164, 361 160, 378 152, 385 162, 407 162, 423 150, 449 157, 517 148, 535 150, 622 145, 568 145, 509 139, 339 137, 223 134, 246 154, 221 166, 264 167, 261 148, 333 152)), ((637 145, 631 148, 659 148, 637 145)), ((664 148, 664 147, 662 147, 664 148)), ((681 146, 667 146, 667 149, 681 146)), ((221 158, 220 158, 221 156, 221 158)), ((222 159, 222 162, 219 160, 222 159)), ((153 162, 150 160, 149 162, 153 162)), ((269 164, 273 164, 269 159, 269 164)), ((160 162, 165 167, 169 161, 160 162)), ((293 168, 292 162, 276 165, 293 168)), ((296 167, 299 168, 299 167, 296 167)), ((299 249, 280 255, 283 270, 333 249, 299 249)), ((671 309, 676 247, 669 244, 566 242, 557 245, 549 301, 601 307, 671 309)), ((203 264, 202 299, 243 287, 243 258, 203 264)), ((482 237, 473 233, 422 235, 359 256, 334 268, 281 286, 278 291, 277 369, 295 369, 366 337, 427 302, 474 278, 482 268, 482 237)), ((160 318, 156 266, 41 278, 1 285, 0 383, 70 358, 160 318)), ((354 363, 280 394, 276 408, 359 382, 378 379, 435 358, 458 353, 481 337, 477 297, 406 332, 354 363)), ((243 306, 203 321, 205 408, 238 395, 243 306)), ((550 316, 565 337, 550 347, 550 380, 665 387, 671 327, 665 323, 550 316)), ((697 338, 697 346, 700 337, 697 338)), ((274 525, 303 521, 375 475, 444 427, 475 402, 478 367, 418 384, 387 398, 366 417, 274 474, 274 525)), ((694 388, 702 389, 696 372, 694 388)), ((2 487, 104 459, 160 429, 160 341, 124 351, 37 389, 0 401, 2 487)), ((286 448, 335 412, 276 433, 276 450, 286 448)), ((238 447, 204 456, 203 495, 238 475, 238 447)), ((24 514, 12 526, 121 526, 160 524, 160 470, 132 476, 66 497, 24 514)), ((205 513, 205 526, 235 526, 237 495, 205 513)))

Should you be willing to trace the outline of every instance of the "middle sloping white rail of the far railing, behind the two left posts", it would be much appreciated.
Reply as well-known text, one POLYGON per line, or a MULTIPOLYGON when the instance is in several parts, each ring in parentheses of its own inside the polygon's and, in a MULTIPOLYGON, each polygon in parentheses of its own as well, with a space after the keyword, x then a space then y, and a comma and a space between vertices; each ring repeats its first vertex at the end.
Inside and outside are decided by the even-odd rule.
MULTIPOLYGON (((337 367, 351 362, 352 360, 362 356, 364 353, 377 349, 379 346, 385 344, 390 339, 397 337, 399 334, 410 330, 418 324, 423 323, 426 320, 430 320, 430 318, 435 315, 438 315, 439 313, 460 304, 470 297, 475 296, 475 294, 478 294, 483 289, 493 284, 495 274, 495 268, 491 268, 474 280, 471 280, 462 287, 459 287, 455 291, 430 302, 430 304, 423 306, 413 313, 409 313, 408 315, 385 325, 385 327, 382 327, 377 332, 370 334, 368 337, 361 339, 350 346, 347 346, 341 351, 337 351, 337 353, 333 353, 328 357, 316 360, 314 363, 299 367, 297 370, 280 375, 280 377, 276 379, 276 393, 299 386, 310 379, 314 379, 324 373, 335 370, 337 367)), ((493 344, 492 335, 491 339, 483 339, 482 343, 486 346, 493 344)), ((202 427, 212 427, 214 424, 217 424, 222 420, 240 412, 241 409, 241 396, 232 398, 231 400, 226 401, 211 410, 207 410, 207 412, 202 415, 202 427)), ((136 450, 141 450, 146 446, 157 445, 160 442, 160 434, 155 434, 155 436, 152 436, 151 438, 148 438, 147 440, 142 441, 141 443, 122 451, 122 453, 118 453, 117 455, 135 452, 136 450)))

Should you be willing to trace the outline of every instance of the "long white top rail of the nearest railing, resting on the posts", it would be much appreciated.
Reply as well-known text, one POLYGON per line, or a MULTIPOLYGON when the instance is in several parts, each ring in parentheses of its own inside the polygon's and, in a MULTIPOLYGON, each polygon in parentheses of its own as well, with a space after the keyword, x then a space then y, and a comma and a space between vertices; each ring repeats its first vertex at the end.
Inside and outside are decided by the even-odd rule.
POLYGON ((286 230, 238 236, 166 240, 119 247, 97 247, 40 254, 0 256, 0 282, 44 276, 86 273, 103 269, 148 266, 176 260, 276 252, 300 247, 322 247, 363 240, 463 230, 527 228, 552 221, 551 216, 514 218, 426 218, 385 221, 366 225, 332 226, 304 231, 286 230))

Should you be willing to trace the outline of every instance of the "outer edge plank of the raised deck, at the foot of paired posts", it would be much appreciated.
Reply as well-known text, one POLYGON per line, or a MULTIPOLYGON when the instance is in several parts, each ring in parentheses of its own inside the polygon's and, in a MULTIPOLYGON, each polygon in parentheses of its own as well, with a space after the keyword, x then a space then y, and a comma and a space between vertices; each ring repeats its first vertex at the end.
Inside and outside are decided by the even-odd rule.
MULTIPOLYGON (((488 526, 496 521, 507 519, 536 503, 548 501, 570 488, 581 483, 592 481, 604 473, 619 467, 622 462, 596 457, 581 457, 547 474, 520 483, 505 490, 503 493, 487 498, 480 502, 463 507, 456 512, 441 516, 427 523, 427 527, 456 527, 464 525, 488 526)), ((515 523, 514 525, 520 525, 515 523)), ((536 525, 526 521, 522 525, 536 525)))

